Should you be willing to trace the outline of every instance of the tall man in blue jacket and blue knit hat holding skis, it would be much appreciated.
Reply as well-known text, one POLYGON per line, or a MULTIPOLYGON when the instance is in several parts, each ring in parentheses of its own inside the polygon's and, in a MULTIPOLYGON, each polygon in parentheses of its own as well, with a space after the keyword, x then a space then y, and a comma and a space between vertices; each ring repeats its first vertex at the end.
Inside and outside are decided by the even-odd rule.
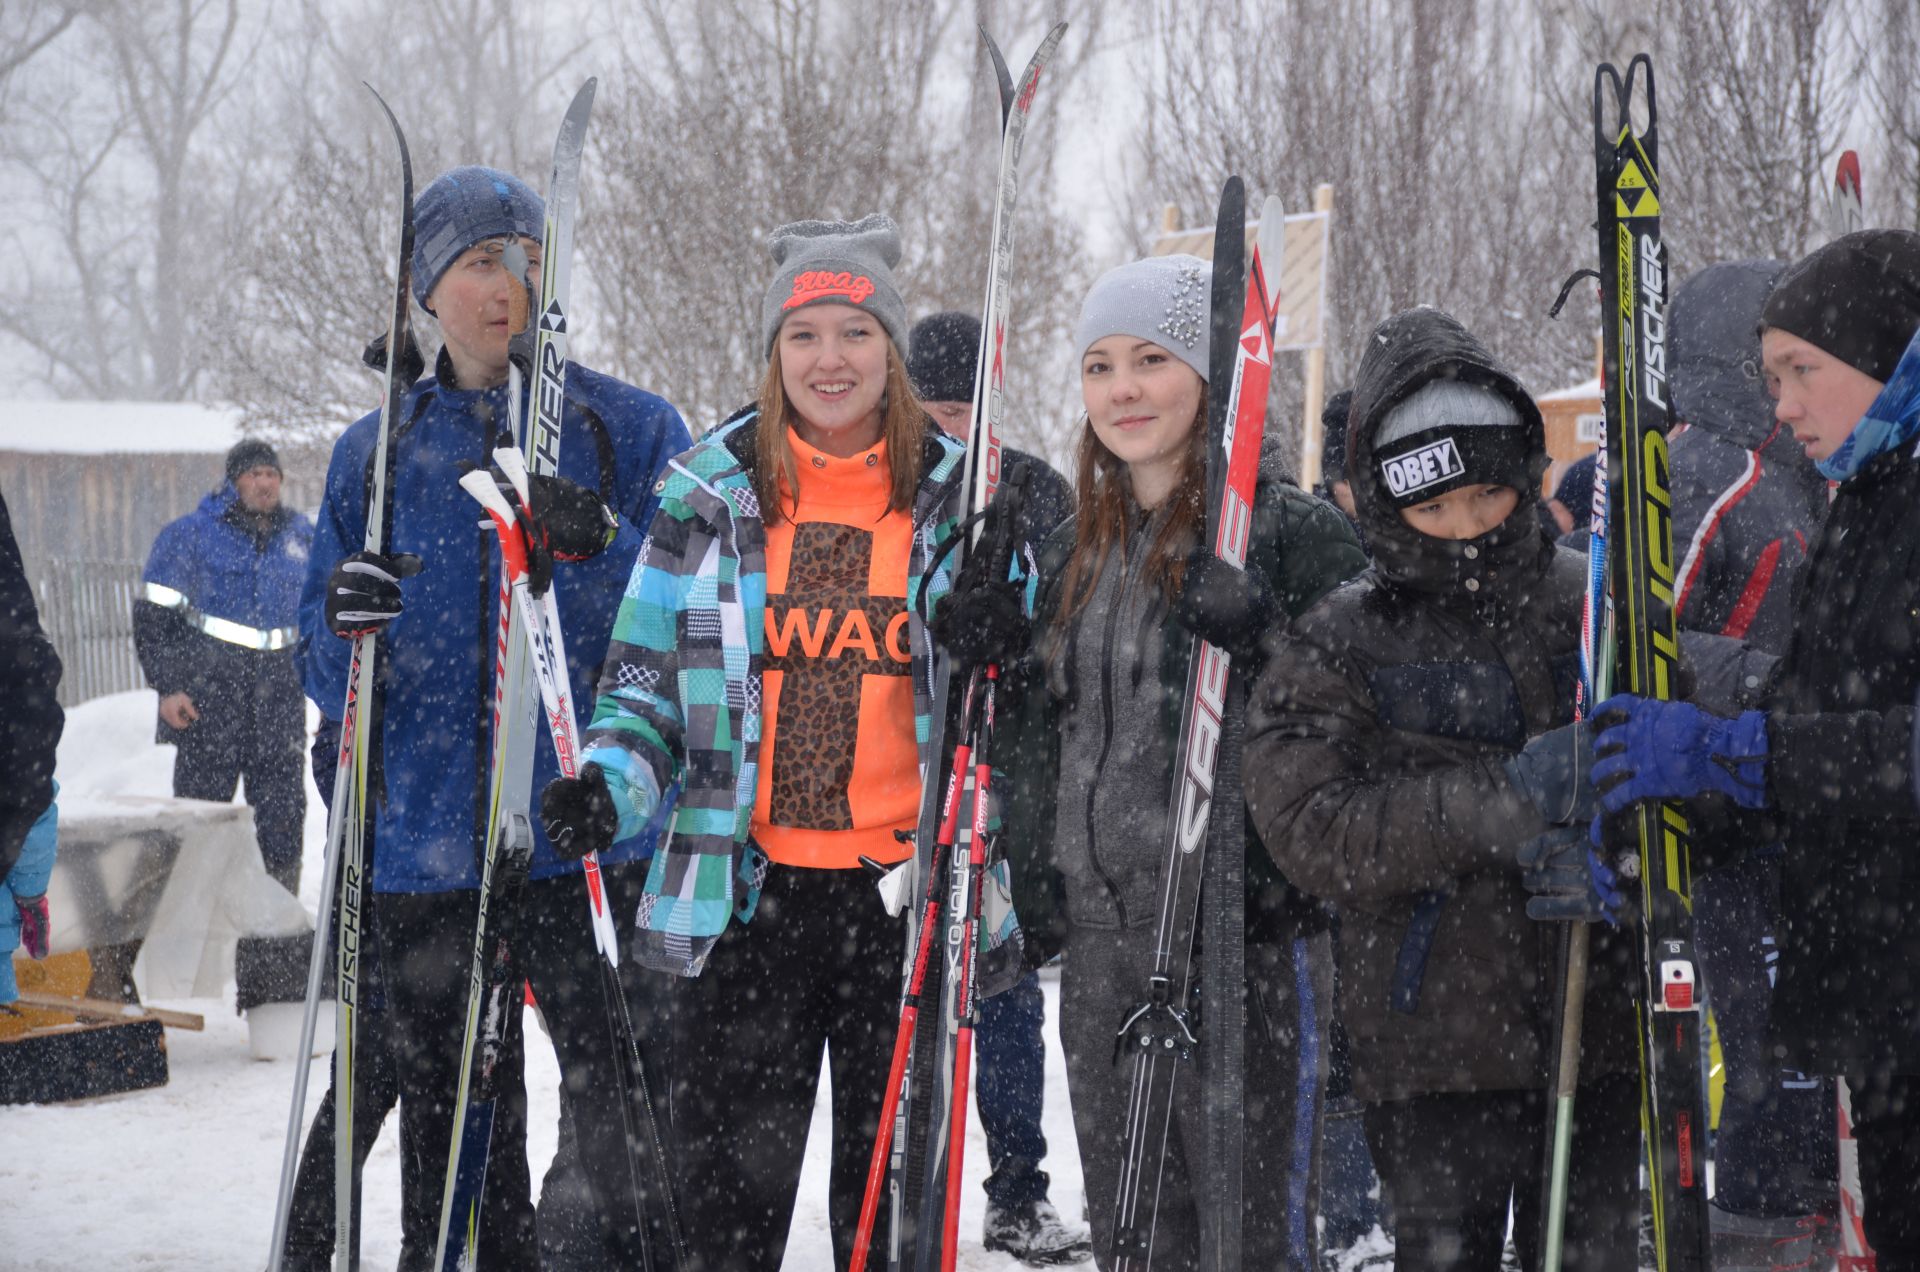
MULTIPOLYGON (((503 254, 520 242, 538 294, 543 217, 534 190, 488 167, 451 169, 420 192, 413 294, 445 344, 392 423, 386 553, 361 551, 380 425, 372 413, 334 446, 301 594, 305 688, 324 713, 338 717, 346 701, 344 638, 380 634, 371 928, 401 1099, 401 1268, 430 1264, 440 1224, 488 820, 499 548, 459 478, 507 440, 507 309, 518 281, 503 254)), ((655 475, 687 446, 664 400, 568 365, 559 475, 536 478, 534 500, 559 561, 553 588, 578 701, 593 699, 614 609, 653 519, 655 475)), ((541 728, 534 790, 555 776, 541 728)), ((609 1249, 620 1266, 639 1266, 643 1220, 616 1116, 620 1051, 593 966, 580 865, 555 857, 538 820, 516 957, 559 1055, 609 1249)), ((653 840, 649 826, 601 859, 618 915, 637 905, 653 840)), ((636 980, 630 972, 630 991, 636 980)), ((634 997, 643 1016, 645 990, 634 997)), ((478 1253, 484 1266, 538 1266, 518 1045, 503 1070, 478 1253)), ((378 1120, 355 1118, 355 1153, 376 1134, 378 1120)), ((330 1172, 332 1145, 321 1143, 330 1137, 330 1118, 324 1136, 309 1134, 303 1176, 330 1172)), ((296 1203, 288 1266, 323 1262, 332 1235, 330 1189, 300 1191, 311 1207, 296 1203)))

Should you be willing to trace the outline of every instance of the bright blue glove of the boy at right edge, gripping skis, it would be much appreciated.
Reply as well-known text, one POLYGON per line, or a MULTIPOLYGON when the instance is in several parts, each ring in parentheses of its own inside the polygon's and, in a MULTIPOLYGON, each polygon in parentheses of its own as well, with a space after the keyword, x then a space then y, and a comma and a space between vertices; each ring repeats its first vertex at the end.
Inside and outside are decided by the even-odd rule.
POLYGON ((1607 813, 1715 792, 1743 809, 1766 807, 1764 711, 1728 721, 1693 703, 1615 694, 1594 721, 1594 788, 1607 813))

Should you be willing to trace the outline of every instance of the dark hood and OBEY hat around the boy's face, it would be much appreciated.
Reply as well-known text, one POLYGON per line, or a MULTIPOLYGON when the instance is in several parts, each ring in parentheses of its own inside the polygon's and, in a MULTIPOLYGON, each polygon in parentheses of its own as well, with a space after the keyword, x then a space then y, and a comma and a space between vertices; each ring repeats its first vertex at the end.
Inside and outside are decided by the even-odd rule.
POLYGON ((1546 469, 1540 407, 1452 315, 1407 309, 1373 329, 1354 377, 1346 475, 1384 580, 1496 601, 1536 578, 1553 555, 1532 507, 1546 469), (1478 538, 1432 538, 1400 515, 1473 484, 1519 492, 1519 507, 1478 538))

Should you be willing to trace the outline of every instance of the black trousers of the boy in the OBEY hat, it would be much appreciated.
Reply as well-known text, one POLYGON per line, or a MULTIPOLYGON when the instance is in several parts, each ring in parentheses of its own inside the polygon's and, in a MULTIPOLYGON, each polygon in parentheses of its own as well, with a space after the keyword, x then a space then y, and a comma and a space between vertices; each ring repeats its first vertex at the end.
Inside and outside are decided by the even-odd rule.
MULTIPOLYGON (((1513 1203, 1523 1268, 1540 1266, 1546 1091, 1415 1095, 1367 1105, 1367 1143, 1394 1211, 1398 1272, 1500 1272, 1513 1203)), ((1580 1084, 1563 1264, 1634 1268, 1640 1239, 1640 1078, 1580 1084)))

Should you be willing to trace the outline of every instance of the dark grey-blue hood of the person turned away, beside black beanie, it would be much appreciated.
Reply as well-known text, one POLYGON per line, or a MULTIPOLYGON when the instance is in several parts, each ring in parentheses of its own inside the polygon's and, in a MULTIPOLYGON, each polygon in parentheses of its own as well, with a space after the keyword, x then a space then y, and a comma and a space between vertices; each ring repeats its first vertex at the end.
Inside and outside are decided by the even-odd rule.
POLYGON ((1774 432, 1766 396, 1761 306, 1784 261, 1726 261, 1693 271, 1667 309, 1667 384, 1674 419, 1759 450, 1774 432))

